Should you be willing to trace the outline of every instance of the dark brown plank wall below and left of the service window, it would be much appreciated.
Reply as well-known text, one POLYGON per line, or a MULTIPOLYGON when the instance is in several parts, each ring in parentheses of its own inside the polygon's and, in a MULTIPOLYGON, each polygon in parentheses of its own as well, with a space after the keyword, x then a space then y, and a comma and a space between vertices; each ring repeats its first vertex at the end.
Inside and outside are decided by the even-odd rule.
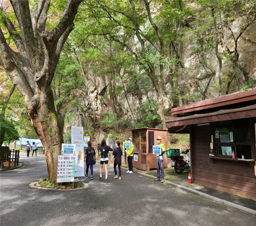
POLYGON ((214 159, 211 162, 210 142, 213 125, 191 125, 191 172, 194 183, 256 201, 256 176, 245 161, 214 159))

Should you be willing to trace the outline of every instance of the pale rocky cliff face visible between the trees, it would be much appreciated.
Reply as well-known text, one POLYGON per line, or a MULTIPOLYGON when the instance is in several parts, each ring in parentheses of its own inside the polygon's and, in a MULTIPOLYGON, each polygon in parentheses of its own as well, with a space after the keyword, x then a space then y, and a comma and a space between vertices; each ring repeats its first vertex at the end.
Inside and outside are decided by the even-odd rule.
MULTIPOLYGON (((196 23, 196 22, 194 22, 196 23)), ((233 35, 236 37, 239 33, 239 26, 242 21, 237 19, 229 24, 233 35)), ((222 33, 220 42, 218 45, 218 51, 223 53, 223 92, 225 94, 227 89, 227 82, 234 74, 234 62, 229 56, 235 57, 235 41, 230 32, 230 29, 218 27, 222 33), (225 55, 226 54, 226 55, 225 55)), ((215 49, 209 49, 205 52, 205 60, 207 61, 207 67, 211 68, 214 73, 212 78, 206 75, 206 69, 200 66, 200 59, 195 55, 192 55, 192 50, 195 46, 195 42, 191 39, 190 35, 187 34, 186 41, 183 43, 183 54, 182 61, 184 70, 182 76, 178 78, 178 89, 184 94, 183 98, 180 98, 180 105, 188 104, 192 101, 202 100, 202 92, 206 89, 209 83, 209 88, 206 91, 206 97, 217 97, 219 96, 218 83, 219 83, 219 61, 215 54, 215 49), (200 66, 200 67, 199 67, 200 66), (210 79, 211 78, 211 79, 210 79), (210 82, 209 82, 210 81, 210 82), (190 98, 192 97, 192 98, 190 98)), ((238 71, 236 76, 231 82, 229 93, 239 91, 241 88, 247 85, 246 82, 250 80, 256 80, 256 23, 251 24, 246 31, 239 37, 237 42, 237 53, 239 54, 238 59, 238 71)), ((139 73, 139 72, 138 72, 139 73)), ((167 71, 166 71, 166 74, 167 71)), ((117 86, 121 86, 121 81, 115 81, 113 89, 117 86)), ((103 100, 104 94, 108 91, 109 84, 107 78, 96 77, 95 81, 88 81, 88 88, 90 90, 90 96, 93 100, 93 106, 90 103, 88 95, 81 93, 79 95, 82 100, 82 106, 76 109, 74 117, 66 119, 66 125, 80 125, 85 128, 92 127, 93 116, 92 108, 95 109, 97 114, 97 120, 100 119, 100 113, 113 113, 108 101, 103 100), (83 110, 82 110, 83 109, 83 110)), ((172 84, 168 81, 166 76, 165 82, 166 97, 165 97, 165 109, 170 109, 173 105, 171 92, 172 84)), ((132 124, 132 119, 141 120, 145 118, 145 115, 140 114, 135 109, 140 108, 142 104, 149 101, 149 97, 154 101, 157 101, 157 95, 154 92, 144 92, 142 89, 140 92, 129 92, 127 93, 127 99, 125 93, 122 92, 115 97, 115 103, 118 113, 122 120, 129 120, 132 124), (129 102, 129 105, 128 105, 129 102), (130 110, 132 109, 132 112, 130 110)), ((66 127, 65 132, 70 130, 66 127)), ((90 129, 89 129, 90 130, 90 129)))

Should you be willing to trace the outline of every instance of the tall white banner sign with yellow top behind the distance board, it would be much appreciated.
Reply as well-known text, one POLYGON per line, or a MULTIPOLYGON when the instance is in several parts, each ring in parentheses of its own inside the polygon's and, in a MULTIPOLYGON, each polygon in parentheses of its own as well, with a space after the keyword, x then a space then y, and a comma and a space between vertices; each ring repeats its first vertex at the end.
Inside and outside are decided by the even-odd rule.
POLYGON ((71 144, 75 145, 74 176, 84 176, 83 127, 71 126, 71 144))

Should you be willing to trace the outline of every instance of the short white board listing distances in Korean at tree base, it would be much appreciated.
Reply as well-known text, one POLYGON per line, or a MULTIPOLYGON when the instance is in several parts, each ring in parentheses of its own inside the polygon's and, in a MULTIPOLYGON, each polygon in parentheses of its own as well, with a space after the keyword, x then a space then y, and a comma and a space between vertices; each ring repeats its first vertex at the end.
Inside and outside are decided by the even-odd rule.
POLYGON ((74 163, 75 163, 74 155, 58 156, 57 183, 74 182, 74 163))

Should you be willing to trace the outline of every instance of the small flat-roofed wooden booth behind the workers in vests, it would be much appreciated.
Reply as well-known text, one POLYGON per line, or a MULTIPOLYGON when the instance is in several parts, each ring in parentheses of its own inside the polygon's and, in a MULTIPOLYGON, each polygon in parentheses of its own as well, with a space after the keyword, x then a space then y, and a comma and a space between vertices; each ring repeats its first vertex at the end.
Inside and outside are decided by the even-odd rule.
MULTIPOLYGON (((153 145, 157 145, 157 137, 161 137, 161 142, 167 149, 166 129, 140 128, 132 130, 132 143, 134 145, 133 167, 140 170, 149 171, 157 168, 156 155, 153 155, 153 145), (137 155, 137 161, 136 156, 137 155)), ((164 154, 164 168, 167 167, 167 157, 164 154)))

